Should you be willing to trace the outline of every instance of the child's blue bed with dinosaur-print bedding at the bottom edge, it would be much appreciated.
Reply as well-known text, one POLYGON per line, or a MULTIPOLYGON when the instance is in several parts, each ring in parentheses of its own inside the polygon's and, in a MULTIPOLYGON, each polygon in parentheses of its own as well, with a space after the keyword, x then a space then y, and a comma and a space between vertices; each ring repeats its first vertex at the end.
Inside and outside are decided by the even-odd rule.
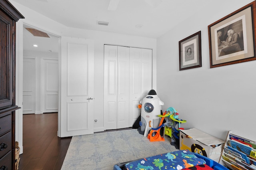
POLYGON ((182 170, 186 168, 190 170, 228 170, 214 160, 188 150, 168 152, 114 165, 114 170, 182 170))

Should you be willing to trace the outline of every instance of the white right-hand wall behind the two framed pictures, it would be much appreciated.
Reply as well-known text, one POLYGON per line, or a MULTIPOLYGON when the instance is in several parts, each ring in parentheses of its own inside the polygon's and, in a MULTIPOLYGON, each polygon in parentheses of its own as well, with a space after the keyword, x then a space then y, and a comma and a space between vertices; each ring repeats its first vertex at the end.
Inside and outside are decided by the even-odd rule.
POLYGON ((222 140, 228 130, 256 141, 256 61, 210 69, 208 25, 252 2, 226 0, 157 39, 157 89, 162 107, 174 107, 181 127, 197 128, 222 140), (228 7, 228 8, 227 8, 228 7), (201 30, 202 67, 179 71, 180 40, 201 30))

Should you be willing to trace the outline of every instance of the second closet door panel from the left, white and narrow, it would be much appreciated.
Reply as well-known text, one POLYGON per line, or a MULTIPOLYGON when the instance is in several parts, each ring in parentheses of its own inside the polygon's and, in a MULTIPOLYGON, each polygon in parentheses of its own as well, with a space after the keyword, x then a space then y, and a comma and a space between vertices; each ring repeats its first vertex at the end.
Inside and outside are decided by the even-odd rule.
POLYGON ((129 127, 129 47, 117 47, 117 128, 129 127))

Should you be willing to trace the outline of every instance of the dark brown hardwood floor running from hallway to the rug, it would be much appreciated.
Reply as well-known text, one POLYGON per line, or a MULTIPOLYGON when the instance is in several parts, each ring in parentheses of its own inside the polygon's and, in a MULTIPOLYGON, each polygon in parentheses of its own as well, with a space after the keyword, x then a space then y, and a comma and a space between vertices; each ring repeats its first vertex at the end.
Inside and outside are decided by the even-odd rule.
POLYGON ((60 170, 71 138, 59 138, 58 113, 23 115, 19 170, 60 170))

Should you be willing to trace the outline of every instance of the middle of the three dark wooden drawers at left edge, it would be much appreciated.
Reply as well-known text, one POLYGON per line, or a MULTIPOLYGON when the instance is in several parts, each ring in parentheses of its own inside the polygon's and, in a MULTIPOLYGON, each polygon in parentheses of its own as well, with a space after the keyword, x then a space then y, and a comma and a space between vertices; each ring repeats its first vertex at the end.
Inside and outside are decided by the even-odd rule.
POLYGON ((11 131, 4 134, 3 136, 0 136, 0 158, 2 158, 2 156, 4 156, 10 150, 12 150, 12 132, 11 131))

